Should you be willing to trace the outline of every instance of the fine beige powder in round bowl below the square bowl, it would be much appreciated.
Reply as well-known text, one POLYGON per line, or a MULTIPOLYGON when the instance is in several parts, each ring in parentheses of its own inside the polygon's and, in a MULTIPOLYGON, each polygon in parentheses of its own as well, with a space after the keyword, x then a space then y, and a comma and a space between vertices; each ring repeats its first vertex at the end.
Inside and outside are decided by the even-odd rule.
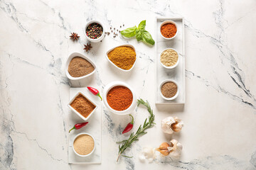
POLYGON ((87 155, 92 152, 95 142, 90 135, 79 135, 73 143, 75 152, 81 155, 87 155))

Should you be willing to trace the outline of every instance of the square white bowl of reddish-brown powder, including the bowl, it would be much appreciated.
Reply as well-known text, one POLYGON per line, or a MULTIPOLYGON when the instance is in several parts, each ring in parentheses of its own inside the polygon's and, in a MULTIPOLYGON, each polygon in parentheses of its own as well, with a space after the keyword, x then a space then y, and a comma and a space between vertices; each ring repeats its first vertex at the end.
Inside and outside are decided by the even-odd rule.
POLYGON ((68 107, 77 114, 82 120, 88 120, 92 113, 97 109, 96 103, 94 103, 90 98, 82 94, 81 91, 71 99, 68 103, 68 107))

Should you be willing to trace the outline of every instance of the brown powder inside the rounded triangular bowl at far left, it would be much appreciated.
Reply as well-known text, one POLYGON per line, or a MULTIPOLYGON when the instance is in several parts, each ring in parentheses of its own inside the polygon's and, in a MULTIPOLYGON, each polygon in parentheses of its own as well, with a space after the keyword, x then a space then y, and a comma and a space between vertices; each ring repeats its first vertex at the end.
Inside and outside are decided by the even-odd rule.
POLYGON ((82 57, 74 57, 68 65, 68 73, 72 77, 82 77, 93 72, 95 68, 82 57))

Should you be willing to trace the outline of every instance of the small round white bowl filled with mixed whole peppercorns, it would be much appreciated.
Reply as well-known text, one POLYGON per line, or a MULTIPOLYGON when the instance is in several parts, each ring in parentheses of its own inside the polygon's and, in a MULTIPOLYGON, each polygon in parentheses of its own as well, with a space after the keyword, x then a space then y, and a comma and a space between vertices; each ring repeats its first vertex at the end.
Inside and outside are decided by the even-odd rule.
POLYGON ((89 21, 85 24, 85 37, 90 42, 100 42, 105 37, 105 29, 100 21, 89 21))

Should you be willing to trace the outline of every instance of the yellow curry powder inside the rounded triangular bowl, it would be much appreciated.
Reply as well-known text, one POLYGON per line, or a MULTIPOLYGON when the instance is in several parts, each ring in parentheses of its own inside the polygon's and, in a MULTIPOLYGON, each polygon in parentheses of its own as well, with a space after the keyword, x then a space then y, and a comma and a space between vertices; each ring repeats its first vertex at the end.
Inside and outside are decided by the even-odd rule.
POLYGON ((131 69, 135 60, 136 52, 132 47, 116 47, 107 54, 107 57, 121 69, 131 69))

